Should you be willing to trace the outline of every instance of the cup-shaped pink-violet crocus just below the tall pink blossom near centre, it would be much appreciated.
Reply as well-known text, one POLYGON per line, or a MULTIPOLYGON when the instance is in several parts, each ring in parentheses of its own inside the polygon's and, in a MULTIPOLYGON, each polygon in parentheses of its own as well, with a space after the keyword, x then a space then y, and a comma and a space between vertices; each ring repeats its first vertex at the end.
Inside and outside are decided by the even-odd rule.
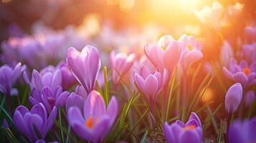
POLYGON ((139 74, 134 72, 134 81, 149 103, 153 104, 156 95, 161 92, 166 83, 166 73, 167 71, 164 71, 163 74, 158 71, 150 71, 146 66, 141 67, 139 74))

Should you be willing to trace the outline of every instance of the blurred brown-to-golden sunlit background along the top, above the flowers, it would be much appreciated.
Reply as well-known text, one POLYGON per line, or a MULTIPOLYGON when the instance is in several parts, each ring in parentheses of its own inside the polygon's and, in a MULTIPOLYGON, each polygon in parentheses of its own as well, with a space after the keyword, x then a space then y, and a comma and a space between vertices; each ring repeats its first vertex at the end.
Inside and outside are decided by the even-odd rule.
MULTIPOLYGON (((245 4, 243 14, 254 18, 254 0, 221 0, 223 6, 240 2, 245 4)), ((179 29, 191 34, 199 34, 199 20, 195 9, 211 5, 212 0, 1 0, 0 40, 8 38, 10 24, 16 24, 29 33, 36 21, 52 27, 64 29, 67 25, 80 26, 87 22, 88 29, 97 31, 103 23, 114 29, 126 29, 146 24, 161 25, 180 36, 179 29)))

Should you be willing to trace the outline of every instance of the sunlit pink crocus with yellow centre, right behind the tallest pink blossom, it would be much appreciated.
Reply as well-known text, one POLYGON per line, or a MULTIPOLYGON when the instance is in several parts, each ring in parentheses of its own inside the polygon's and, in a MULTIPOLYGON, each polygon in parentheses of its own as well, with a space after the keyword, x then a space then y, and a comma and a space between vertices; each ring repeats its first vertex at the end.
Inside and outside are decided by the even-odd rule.
POLYGON ((179 39, 181 46, 181 65, 184 69, 193 64, 195 61, 202 59, 202 42, 196 40, 194 36, 183 34, 179 39))

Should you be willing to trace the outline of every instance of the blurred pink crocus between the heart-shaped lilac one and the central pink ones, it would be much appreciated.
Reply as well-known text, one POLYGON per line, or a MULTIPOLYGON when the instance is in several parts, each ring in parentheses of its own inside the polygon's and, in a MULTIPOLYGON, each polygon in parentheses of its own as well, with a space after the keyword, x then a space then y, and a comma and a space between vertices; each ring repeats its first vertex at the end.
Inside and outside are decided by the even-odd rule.
POLYGON ((118 86, 120 79, 131 69, 133 62, 136 60, 135 54, 115 54, 115 51, 110 53, 110 69, 111 78, 115 87, 118 86))

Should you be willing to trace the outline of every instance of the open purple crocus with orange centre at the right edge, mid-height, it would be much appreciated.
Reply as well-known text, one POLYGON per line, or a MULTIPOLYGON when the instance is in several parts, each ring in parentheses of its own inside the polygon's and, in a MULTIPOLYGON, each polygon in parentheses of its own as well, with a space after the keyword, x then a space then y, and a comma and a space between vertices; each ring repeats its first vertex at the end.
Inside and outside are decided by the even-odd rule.
POLYGON ((229 67, 223 66, 224 74, 234 82, 240 82, 244 87, 250 87, 256 83, 256 61, 248 64, 242 60, 237 64, 235 59, 230 59, 229 67))

